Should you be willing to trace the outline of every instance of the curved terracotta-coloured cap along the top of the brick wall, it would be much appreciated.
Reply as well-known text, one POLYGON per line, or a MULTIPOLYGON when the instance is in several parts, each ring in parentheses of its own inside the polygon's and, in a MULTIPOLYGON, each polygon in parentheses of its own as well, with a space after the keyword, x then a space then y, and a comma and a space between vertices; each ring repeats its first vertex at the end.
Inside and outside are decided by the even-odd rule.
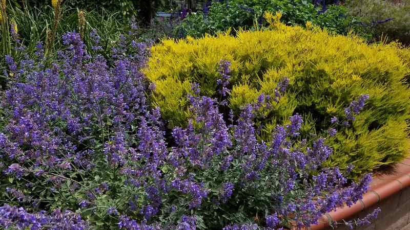
POLYGON ((336 209, 336 211, 326 213, 318 220, 318 224, 305 229, 320 230, 329 226, 331 221, 347 220, 380 200, 410 186, 410 157, 404 158, 400 163, 394 165, 392 169, 389 172, 375 173, 369 191, 358 202, 350 207, 344 205, 342 208, 336 209))

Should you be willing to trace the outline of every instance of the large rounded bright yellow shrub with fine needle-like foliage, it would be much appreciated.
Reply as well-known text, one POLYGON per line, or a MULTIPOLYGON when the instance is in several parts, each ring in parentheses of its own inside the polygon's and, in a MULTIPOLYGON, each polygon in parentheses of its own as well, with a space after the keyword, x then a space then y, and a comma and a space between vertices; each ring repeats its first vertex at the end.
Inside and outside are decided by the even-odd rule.
POLYGON ((216 66, 226 59, 232 63, 228 101, 236 114, 261 93, 274 95, 283 77, 290 80, 281 101, 261 114, 261 138, 294 113, 303 115, 302 136, 319 134, 329 128, 332 117, 342 116, 341 108, 360 94, 369 94, 369 109, 353 121, 354 129, 329 140, 335 148, 329 165, 343 168, 354 163, 354 173, 361 174, 407 154, 410 92, 403 82, 409 66, 402 59, 408 57, 406 50, 317 28, 274 27, 240 31, 236 37, 167 39, 155 45, 145 73, 156 84, 153 103, 161 107, 167 125, 183 125, 189 116, 185 95, 190 83, 198 82, 203 95, 216 95, 216 66))

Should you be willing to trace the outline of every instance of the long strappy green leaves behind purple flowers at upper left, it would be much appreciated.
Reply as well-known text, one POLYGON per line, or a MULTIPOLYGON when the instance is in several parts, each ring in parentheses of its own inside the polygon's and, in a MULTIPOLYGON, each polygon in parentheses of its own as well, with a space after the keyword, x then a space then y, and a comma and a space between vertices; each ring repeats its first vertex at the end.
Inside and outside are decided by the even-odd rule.
MULTIPOLYGON (((34 53, 38 41, 47 41, 47 34, 53 30, 54 9, 50 5, 32 7, 26 5, 24 8, 8 5, 7 12, 18 28, 19 39, 26 45, 27 53, 34 53)), ((59 49, 61 35, 66 31, 81 31, 78 22, 79 10, 63 5, 59 16, 58 26, 54 36, 54 48, 59 49)), ((120 33, 124 33, 128 27, 117 19, 118 13, 110 13, 105 10, 90 11, 85 13, 85 30, 83 32, 86 43, 89 43, 89 32, 95 29, 101 35, 101 43, 105 44, 105 51, 109 52, 112 41, 118 39, 120 33)), ((14 55, 15 56, 15 55, 14 55)))

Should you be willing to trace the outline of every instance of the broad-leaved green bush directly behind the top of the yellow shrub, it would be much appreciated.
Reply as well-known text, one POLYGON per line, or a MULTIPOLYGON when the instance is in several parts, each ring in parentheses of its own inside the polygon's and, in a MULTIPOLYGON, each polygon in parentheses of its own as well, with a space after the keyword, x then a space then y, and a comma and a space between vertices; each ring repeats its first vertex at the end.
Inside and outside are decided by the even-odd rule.
POLYGON ((325 12, 315 7, 310 1, 296 0, 232 0, 214 1, 207 14, 199 12, 190 14, 176 27, 177 36, 200 37, 203 34, 216 34, 228 28, 239 27, 252 29, 255 24, 265 24, 263 12, 282 12, 282 22, 287 25, 304 26, 306 21, 327 30, 347 34, 353 29, 355 32, 369 36, 365 28, 357 24, 356 18, 347 16, 343 6, 332 5, 325 12))

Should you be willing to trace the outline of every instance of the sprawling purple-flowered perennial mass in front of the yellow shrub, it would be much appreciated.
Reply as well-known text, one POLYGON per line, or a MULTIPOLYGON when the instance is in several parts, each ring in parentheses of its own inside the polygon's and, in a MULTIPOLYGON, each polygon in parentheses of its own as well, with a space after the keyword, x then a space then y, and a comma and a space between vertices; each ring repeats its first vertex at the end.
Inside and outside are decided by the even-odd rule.
MULTIPOLYGON (((258 138, 256 116, 279 102, 289 79, 238 115, 224 114, 228 60, 219 62, 220 99, 193 84, 187 126, 167 130, 160 108, 149 104, 155 85, 140 72, 149 45, 132 34, 120 37, 109 59, 98 54, 95 32, 91 51, 80 34, 65 34, 66 49, 51 65, 41 43, 34 59, 6 57, 0 193, 8 202, 0 206, 0 226, 301 228, 367 191, 370 174, 351 183, 338 168, 322 167, 333 149, 324 137, 300 138, 299 114, 277 124, 269 140, 258 138)), ((353 121, 366 99, 340 119, 353 121)))

